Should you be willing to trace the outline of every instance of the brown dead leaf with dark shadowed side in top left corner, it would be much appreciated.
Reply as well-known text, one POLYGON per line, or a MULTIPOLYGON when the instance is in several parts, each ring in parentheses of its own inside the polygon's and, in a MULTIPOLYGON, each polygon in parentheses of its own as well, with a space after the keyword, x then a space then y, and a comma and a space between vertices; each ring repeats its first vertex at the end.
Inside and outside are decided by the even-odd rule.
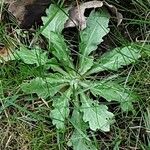
POLYGON ((45 12, 50 0, 16 0, 10 3, 8 11, 23 28, 31 27, 45 12))

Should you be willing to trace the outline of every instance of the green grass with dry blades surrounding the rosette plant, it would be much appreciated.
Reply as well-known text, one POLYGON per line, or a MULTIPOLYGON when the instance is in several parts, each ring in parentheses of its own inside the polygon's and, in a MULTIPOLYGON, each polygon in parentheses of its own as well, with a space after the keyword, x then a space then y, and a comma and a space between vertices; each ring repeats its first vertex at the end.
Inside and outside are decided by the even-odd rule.
MULTIPOLYGON (((149 51, 150 46, 147 45, 150 43, 146 38, 147 32, 150 30, 149 1, 131 2, 129 0, 132 5, 129 5, 129 3, 124 5, 118 3, 118 1, 109 0, 122 11, 125 18, 123 25, 118 28, 114 25, 114 22, 111 23, 112 31, 108 37, 110 42, 106 46, 111 48, 133 42, 140 49, 145 48, 149 51), (144 42, 135 43, 137 37, 144 42)), ((6 25, 9 26, 9 24, 6 25)), ((34 34, 37 37, 39 36, 38 31, 34 34)), ((12 39, 2 24, 0 35, 0 43, 4 45, 13 43, 13 45, 20 47, 22 44, 27 46, 31 42, 30 40, 26 42, 28 35, 21 41, 19 41, 20 37, 12 39)), ((39 43, 40 39, 41 37, 37 39, 39 43)), ((20 90, 22 82, 37 76, 44 76, 42 69, 34 65, 31 67, 31 65, 19 61, 0 64, 0 149, 68 149, 67 142, 73 129, 69 125, 63 134, 56 131, 50 119, 52 100, 45 101, 34 94, 32 96, 27 95, 20 90)), ((89 131, 89 135, 91 135, 94 145, 100 146, 102 150, 149 150, 150 52, 143 53, 142 58, 137 63, 119 70, 118 74, 122 77, 120 80, 128 81, 127 84, 140 97, 139 101, 134 104, 135 110, 123 113, 116 103, 112 103, 110 109, 115 114, 116 122, 111 126, 111 131, 108 133, 89 131)), ((69 124, 69 121, 67 123, 69 124)))

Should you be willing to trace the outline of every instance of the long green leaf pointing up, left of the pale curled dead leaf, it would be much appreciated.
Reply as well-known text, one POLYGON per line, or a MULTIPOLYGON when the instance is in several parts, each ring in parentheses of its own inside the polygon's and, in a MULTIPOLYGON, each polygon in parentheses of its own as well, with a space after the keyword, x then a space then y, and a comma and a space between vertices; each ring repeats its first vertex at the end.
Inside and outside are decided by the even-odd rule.
POLYGON ((67 11, 67 9, 59 8, 52 4, 46 11, 47 16, 42 18, 43 24, 45 25, 42 34, 49 40, 50 50, 60 61, 60 64, 64 66, 66 70, 72 70, 73 64, 70 51, 68 50, 64 37, 61 35, 64 24, 68 19, 67 11))

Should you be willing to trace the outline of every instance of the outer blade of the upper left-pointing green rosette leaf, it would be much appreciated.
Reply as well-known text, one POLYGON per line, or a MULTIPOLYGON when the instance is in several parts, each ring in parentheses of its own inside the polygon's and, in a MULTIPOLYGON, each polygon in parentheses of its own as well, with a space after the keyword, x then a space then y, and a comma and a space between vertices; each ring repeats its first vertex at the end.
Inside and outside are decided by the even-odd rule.
POLYGON ((26 64, 36 64, 37 66, 44 65, 48 61, 48 57, 41 49, 28 50, 25 47, 21 47, 20 51, 15 54, 18 59, 21 59, 26 64))

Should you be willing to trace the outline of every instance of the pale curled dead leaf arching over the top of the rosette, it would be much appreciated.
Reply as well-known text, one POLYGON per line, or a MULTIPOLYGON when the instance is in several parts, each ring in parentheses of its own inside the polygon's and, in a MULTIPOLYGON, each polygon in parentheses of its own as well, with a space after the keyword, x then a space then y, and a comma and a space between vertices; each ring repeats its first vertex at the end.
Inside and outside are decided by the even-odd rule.
POLYGON ((81 30, 86 28, 86 17, 84 16, 85 10, 89 8, 100 8, 106 6, 112 14, 117 17, 117 25, 122 22, 123 16, 118 12, 117 8, 113 5, 109 5, 107 2, 103 1, 89 1, 81 5, 73 7, 69 10, 69 19, 65 23, 65 28, 68 27, 79 27, 81 30))

